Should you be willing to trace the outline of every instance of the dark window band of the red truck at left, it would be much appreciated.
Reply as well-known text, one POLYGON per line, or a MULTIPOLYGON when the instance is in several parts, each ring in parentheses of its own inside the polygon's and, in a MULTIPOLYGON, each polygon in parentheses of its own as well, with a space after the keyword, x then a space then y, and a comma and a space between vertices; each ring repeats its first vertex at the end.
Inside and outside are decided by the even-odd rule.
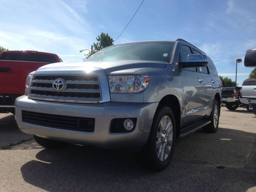
POLYGON ((33 62, 56 62, 53 55, 38 54, 38 53, 4 53, 0 60, 19 60, 33 62))

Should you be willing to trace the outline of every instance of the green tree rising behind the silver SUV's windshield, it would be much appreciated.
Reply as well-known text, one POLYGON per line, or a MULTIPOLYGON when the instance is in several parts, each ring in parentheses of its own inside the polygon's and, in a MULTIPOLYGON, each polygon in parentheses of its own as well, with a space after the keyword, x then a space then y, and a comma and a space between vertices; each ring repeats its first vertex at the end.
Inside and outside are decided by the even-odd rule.
MULTIPOLYGON (((98 37, 96 37, 96 40, 97 40, 97 42, 93 43, 93 50, 85 55, 86 58, 89 58, 91 55, 93 55, 97 51, 101 50, 102 48, 114 45, 113 44, 114 39, 111 38, 111 36, 108 33, 105 34, 105 33, 101 32, 100 35, 98 35, 98 37)), ((80 52, 82 52, 82 51, 83 50, 81 50, 80 52)))

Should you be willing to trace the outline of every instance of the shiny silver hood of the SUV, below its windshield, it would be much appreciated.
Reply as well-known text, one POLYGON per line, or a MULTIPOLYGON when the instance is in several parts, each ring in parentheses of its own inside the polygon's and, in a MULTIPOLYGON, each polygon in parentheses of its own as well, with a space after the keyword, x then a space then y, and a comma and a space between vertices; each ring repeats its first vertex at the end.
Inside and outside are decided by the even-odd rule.
POLYGON ((117 60, 117 61, 84 61, 84 62, 57 62, 39 68, 39 71, 51 71, 51 68, 72 69, 72 68, 101 68, 107 75, 110 74, 132 74, 136 71, 151 68, 164 68, 166 63, 145 60, 117 60))

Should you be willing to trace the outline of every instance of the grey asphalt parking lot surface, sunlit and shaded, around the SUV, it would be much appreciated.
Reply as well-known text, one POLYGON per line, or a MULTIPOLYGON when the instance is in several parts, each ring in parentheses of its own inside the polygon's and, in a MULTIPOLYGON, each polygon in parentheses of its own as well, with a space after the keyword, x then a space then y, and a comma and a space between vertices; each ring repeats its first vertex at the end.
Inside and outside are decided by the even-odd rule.
POLYGON ((171 164, 154 173, 122 150, 46 150, 0 114, 0 191, 256 191, 256 116, 222 107, 219 127, 178 139, 171 164))

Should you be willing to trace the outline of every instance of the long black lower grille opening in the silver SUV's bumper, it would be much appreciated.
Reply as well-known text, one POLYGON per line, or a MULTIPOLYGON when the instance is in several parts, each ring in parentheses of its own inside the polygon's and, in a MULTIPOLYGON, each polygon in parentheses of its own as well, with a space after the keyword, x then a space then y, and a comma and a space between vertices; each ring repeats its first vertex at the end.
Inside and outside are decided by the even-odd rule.
POLYGON ((94 132, 94 118, 52 115, 22 111, 22 121, 25 123, 47 126, 63 130, 94 132))

